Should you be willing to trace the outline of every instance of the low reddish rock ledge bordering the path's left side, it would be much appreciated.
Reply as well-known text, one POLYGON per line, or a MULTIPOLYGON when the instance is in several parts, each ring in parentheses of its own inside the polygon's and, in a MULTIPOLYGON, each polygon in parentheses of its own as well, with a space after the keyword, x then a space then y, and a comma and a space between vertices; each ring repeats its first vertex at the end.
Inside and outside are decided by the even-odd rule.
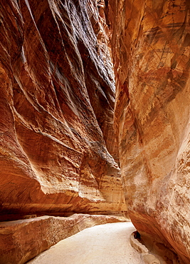
POLYGON ((75 214, 69 218, 42 216, 0 223, 0 263, 26 263, 43 250, 85 228, 125 222, 124 217, 75 214))

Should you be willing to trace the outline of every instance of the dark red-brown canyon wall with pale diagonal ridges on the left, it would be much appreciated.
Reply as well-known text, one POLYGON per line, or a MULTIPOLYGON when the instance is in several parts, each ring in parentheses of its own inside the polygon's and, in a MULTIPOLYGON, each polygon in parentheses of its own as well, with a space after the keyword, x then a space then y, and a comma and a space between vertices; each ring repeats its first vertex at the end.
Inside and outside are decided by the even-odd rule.
POLYGON ((10 213, 125 210, 102 4, 1 1, 4 219, 10 213))

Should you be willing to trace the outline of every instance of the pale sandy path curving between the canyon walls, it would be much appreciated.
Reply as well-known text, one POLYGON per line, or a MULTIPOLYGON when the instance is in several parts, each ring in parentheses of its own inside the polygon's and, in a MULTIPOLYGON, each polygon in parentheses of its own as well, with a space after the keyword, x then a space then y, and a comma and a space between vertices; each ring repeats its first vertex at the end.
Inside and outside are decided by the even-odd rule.
POLYGON ((87 228, 41 253, 32 264, 139 264, 129 241, 132 223, 107 223, 87 228))

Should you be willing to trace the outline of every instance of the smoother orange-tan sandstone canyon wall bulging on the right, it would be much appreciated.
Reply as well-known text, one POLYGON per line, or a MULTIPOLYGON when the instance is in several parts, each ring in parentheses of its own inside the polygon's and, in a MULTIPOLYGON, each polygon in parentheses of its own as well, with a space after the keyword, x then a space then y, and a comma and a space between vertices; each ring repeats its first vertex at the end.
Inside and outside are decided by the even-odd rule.
POLYGON ((189 1, 109 1, 129 214, 190 262, 189 1))

